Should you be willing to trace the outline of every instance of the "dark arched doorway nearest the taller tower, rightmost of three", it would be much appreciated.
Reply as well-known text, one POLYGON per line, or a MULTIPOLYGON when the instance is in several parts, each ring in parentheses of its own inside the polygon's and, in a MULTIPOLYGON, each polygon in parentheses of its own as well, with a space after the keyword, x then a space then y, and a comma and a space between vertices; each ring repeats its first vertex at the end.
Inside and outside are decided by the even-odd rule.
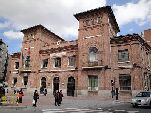
POLYGON ((74 90, 75 90, 75 79, 74 77, 69 77, 67 83, 67 96, 74 96, 74 90))

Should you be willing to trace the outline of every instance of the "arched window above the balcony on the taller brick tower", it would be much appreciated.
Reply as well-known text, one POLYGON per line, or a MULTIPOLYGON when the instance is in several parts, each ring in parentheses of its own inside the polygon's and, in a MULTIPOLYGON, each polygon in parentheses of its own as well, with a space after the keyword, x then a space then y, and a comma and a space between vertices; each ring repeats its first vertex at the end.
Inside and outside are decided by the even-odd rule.
POLYGON ((89 48, 89 62, 96 62, 97 59, 98 49, 96 47, 89 48))

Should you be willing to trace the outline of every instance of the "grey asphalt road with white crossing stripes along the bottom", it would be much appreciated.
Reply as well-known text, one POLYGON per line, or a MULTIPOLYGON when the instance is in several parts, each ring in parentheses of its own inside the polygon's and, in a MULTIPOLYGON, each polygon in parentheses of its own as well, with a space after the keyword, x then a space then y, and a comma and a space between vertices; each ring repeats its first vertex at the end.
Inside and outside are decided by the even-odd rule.
MULTIPOLYGON (((92 103, 93 104, 93 103, 92 103)), ((0 113, 151 113, 151 109, 147 107, 133 108, 129 103, 112 105, 110 107, 102 108, 51 108, 51 109, 39 109, 33 107, 26 108, 3 108, 0 109, 0 113)))

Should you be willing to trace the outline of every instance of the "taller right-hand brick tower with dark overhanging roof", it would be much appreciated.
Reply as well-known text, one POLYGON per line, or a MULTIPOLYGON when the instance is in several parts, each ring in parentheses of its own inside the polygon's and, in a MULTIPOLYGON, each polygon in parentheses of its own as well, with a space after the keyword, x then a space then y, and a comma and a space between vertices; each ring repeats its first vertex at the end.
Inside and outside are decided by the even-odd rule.
POLYGON ((97 85, 94 90, 99 91, 99 86, 105 90, 108 84, 99 82, 99 80, 106 74, 109 76, 108 72, 102 70, 110 67, 110 38, 119 32, 113 11, 110 6, 105 6, 74 16, 79 21, 78 65, 79 70, 82 70, 78 73, 78 78, 80 78, 78 90, 82 94, 87 94, 87 89, 93 90, 93 86, 89 86, 91 78, 96 79, 97 85), (86 80, 87 78, 88 80, 86 80), (82 82, 85 80, 85 83, 82 82))

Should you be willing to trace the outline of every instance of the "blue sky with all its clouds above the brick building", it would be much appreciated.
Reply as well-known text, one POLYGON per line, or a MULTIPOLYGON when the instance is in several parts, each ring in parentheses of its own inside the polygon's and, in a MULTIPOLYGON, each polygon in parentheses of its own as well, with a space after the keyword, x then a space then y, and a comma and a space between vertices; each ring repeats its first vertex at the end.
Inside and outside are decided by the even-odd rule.
POLYGON ((78 37, 76 13, 111 6, 120 28, 118 35, 151 29, 151 0, 0 0, 0 39, 9 54, 22 47, 22 29, 43 25, 65 40, 78 37))

